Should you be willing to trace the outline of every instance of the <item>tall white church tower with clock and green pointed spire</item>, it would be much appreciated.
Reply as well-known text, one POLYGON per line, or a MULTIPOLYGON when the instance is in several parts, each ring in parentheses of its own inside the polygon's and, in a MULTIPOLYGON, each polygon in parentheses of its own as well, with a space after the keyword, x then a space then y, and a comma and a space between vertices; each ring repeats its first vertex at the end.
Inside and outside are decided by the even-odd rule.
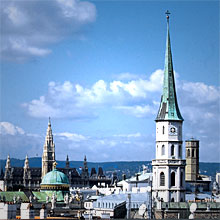
POLYGON ((163 94, 156 117, 156 159, 153 166, 153 198, 164 202, 185 201, 185 160, 182 159, 183 118, 177 103, 173 72, 169 12, 163 94))

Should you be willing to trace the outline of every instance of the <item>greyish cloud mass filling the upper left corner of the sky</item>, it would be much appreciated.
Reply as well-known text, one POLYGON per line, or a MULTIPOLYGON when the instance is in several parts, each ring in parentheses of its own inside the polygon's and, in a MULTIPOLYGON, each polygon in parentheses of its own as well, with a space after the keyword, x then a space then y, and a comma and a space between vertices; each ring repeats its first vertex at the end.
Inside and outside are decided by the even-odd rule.
POLYGON ((79 0, 1 1, 1 56, 23 61, 42 57, 48 47, 67 36, 82 33, 81 27, 94 22, 94 4, 79 0))

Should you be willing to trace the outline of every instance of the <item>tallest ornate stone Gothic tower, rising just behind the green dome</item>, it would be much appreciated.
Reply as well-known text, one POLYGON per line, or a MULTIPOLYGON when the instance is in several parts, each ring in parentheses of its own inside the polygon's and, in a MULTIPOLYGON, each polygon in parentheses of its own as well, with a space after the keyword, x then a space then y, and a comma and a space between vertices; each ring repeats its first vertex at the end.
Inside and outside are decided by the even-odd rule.
POLYGON ((42 155, 42 174, 41 178, 44 177, 45 174, 52 171, 53 163, 55 162, 55 144, 53 142, 53 134, 51 129, 51 122, 49 118, 47 135, 44 143, 44 150, 42 155))

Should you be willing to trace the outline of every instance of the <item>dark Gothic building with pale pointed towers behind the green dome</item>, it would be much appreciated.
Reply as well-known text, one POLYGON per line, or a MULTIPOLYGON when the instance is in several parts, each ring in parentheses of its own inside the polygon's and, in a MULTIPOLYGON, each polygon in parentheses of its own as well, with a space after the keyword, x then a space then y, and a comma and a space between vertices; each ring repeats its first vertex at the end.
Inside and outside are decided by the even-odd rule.
MULTIPOLYGON (((12 167, 11 159, 8 156, 5 166, 5 172, 1 173, 1 179, 4 181, 5 191, 17 190, 40 190, 40 184, 43 177, 53 170, 55 162, 55 144, 53 141, 53 133, 51 122, 49 119, 47 134, 43 147, 42 167, 30 167, 29 160, 26 156, 23 167, 12 167)), ((70 167, 69 157, 66 158, 66 165, 63 168, 57 168, 63 172, 69 179, 70 187, 92 187, 107 186, 111 184, 111 178, 107 178, 102 168, 99 168, 98 173, 96 169, 92 168, 91 173, 87 166, 87 159, 84 157, 83 167, 81 173, 76 168, 70 167)), ((3 172, 3 171, 1 171, 3 172)))

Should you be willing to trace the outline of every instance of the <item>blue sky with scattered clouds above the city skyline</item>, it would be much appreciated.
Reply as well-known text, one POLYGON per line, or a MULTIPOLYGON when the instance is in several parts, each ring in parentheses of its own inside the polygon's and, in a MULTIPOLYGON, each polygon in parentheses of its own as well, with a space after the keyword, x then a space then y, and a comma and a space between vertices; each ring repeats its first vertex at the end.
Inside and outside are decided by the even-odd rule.
POLYGON ((218 1, 1 1, 0 158, 155 158, 169 9, 184 140, 220 160, 218 1), (216 152, 211 154, 210 152, 216 152))

